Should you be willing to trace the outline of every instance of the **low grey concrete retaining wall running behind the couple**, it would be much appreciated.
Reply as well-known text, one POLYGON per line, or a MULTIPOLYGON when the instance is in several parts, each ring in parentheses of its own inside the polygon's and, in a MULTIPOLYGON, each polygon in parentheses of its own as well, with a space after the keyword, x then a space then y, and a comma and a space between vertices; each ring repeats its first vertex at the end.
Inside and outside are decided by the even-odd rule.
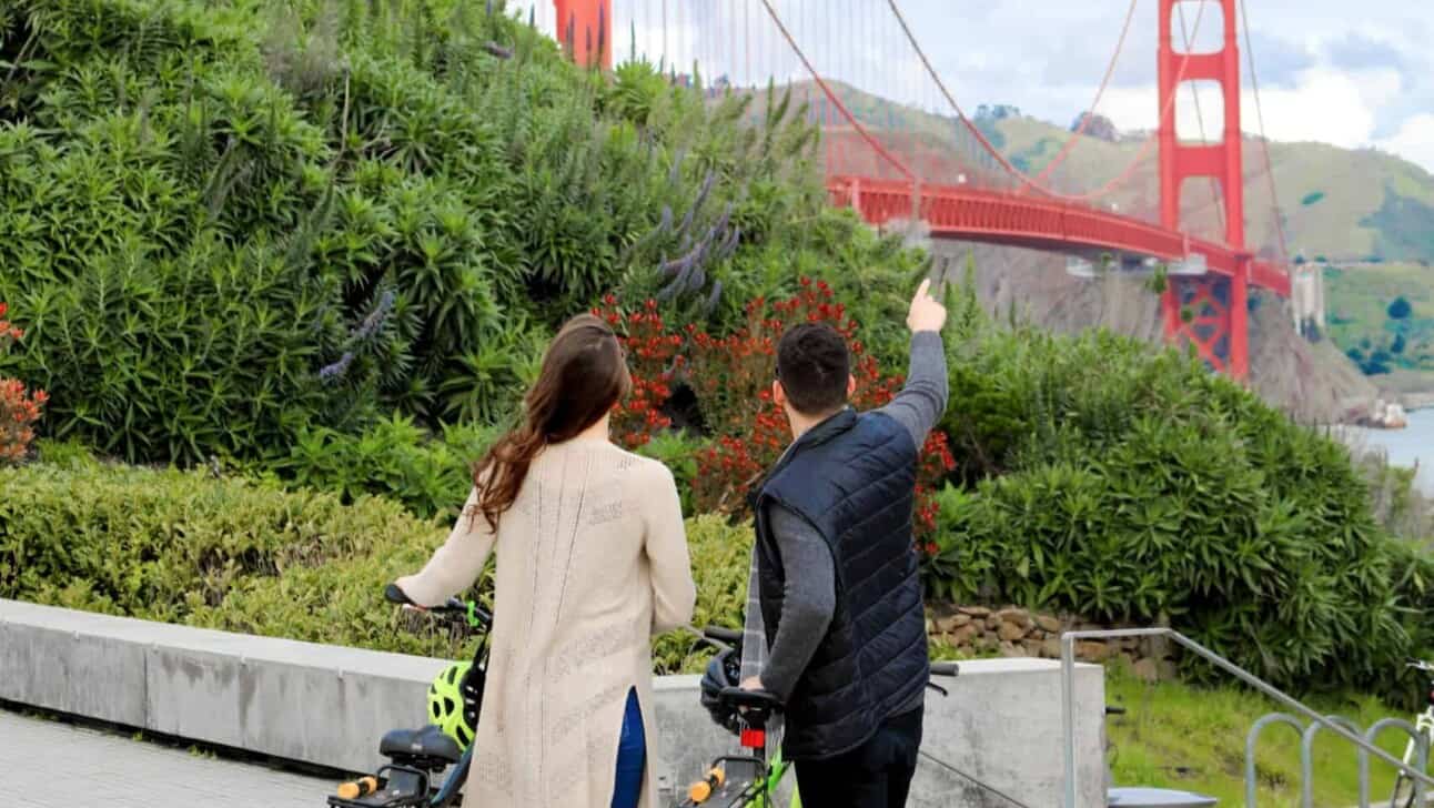
MULTIPOLYGON (((374 766, 384 731, 423 723, 445 664, 0 600, 0 699, 338 769, 374 766)), ((941 683, 951 695, 928 693, 922 749, 1028 805, 1058 804, 1058 664, 969 662, 941 683)), ((1081 804, 1103 805, 1100 667, 1078 667, 1076 700, 1081 804)), ((694 676, 658 677, 655 702, 658 776, 677 794, 733 738, 694 676)), ((1008 805, 925 759, 909 804, 1008 805)))

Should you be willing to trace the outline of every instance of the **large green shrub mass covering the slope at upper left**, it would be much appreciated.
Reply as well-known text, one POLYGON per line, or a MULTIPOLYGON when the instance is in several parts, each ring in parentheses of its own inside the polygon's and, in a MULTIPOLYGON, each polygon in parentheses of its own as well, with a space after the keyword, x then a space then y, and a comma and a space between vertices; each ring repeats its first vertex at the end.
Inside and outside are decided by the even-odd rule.
POLYGON ((750 96, 575 69, 500 10, 9 4, 0 297, 34 339, 6 370, 54 393, 49 433, 192 464, 496 423, 607 290, 717 332, 802 273, 899 304, 915 258, 829 210, 790 96, 753 128, 750 96))

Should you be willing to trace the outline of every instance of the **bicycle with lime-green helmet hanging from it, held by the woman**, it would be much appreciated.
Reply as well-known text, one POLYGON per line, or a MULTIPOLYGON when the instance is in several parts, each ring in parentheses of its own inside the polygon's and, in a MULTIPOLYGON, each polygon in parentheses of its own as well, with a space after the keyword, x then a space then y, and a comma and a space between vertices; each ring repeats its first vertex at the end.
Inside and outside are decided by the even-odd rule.
MULTIPOLYGON (((390 603, 417 609, 394 584, 389 584, 383 596, 390 603)), ((371 775, 341 784, 337 794, 328 797, 330 808, 452 808, 462 804, 460 789, 472 765, 473 731, 483 700, 486 640, 493 629, 493 616, 476 603, 456 597, 422 611, 460 630, 482 631, 473 662, 453 663, 435 677, 429 687, 429 715, 435 723, 384 733, 379 741, 379 753, 390 762, 371 775), (455 692, 462 709, 452 703, 455 692), (449 766, 452 769, 442 784, 435 782, 449 766)))

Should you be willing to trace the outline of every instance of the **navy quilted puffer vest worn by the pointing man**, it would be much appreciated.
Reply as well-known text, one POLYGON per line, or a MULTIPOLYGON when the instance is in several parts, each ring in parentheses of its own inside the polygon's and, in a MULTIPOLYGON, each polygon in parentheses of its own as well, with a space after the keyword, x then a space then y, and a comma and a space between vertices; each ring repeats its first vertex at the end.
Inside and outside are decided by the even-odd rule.
POLYGON ((916 446, 882 413, 840 412, 797 439, 753 494, 767 643, 782 623, 783 570, 766 508, 822 534, 836 563, 836 613, 786 705, 789 759, 840 755, 870 738, 929 676, 912 547, 916 446))

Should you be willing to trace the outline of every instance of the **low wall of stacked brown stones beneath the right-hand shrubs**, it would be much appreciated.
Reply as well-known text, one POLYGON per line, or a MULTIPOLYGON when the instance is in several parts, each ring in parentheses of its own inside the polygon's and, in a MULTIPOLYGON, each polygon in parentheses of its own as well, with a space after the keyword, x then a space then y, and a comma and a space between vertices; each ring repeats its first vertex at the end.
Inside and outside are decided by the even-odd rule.
MULTIPOLYGON (((1121 627, 1040 614, 1014 606, 936 607, 928 619, 928 631, 934 639, 972 656, 1002 657, 1060 659, 1063 633, 1121 627)), ((1164 637, 1081 640, 1076 643, 1076 657, 1093 663, 1123 660, 1136 676, 1147 682, 1173 679, 1176 675, 1174 649, 1164 637)))

